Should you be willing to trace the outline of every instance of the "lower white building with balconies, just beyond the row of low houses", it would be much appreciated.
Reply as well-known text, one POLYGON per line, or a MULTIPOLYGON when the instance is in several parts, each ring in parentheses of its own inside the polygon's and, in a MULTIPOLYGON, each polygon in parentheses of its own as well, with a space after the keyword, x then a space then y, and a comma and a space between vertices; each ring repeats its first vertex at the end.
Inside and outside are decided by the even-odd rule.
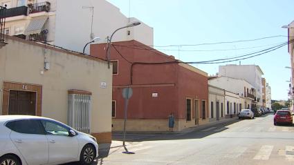
POLYGON ((215 77, 208 80, 208 84, 223 88, 232 93, 237 93, 239 95, 241 109, 252 108, 252 101, 255 99, 253 95, 255 89, 248 81, 232 77, 215 77))

